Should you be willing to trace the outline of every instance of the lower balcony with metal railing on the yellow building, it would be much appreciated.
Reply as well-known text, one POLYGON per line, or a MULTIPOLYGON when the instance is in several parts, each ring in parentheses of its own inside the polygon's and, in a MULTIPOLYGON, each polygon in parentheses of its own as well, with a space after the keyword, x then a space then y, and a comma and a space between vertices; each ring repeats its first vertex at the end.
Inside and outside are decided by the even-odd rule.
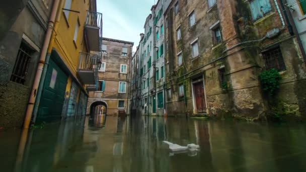
POLYGON ((97 83, 99 64, 101 64, 99 54, 80 52, 77 72, 84 84, 95 85, 97 83))

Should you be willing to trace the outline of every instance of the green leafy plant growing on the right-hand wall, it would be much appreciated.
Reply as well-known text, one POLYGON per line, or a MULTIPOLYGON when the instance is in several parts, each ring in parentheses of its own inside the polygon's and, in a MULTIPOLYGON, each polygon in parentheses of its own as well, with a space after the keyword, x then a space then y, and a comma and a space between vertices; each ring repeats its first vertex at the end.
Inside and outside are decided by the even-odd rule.
POLYGON ((281 75, 276 69, 272 68, 261 72, 259 78, 263 91, 268 93, 270 96, 273 96, 277 89, 279 89, 281 75))

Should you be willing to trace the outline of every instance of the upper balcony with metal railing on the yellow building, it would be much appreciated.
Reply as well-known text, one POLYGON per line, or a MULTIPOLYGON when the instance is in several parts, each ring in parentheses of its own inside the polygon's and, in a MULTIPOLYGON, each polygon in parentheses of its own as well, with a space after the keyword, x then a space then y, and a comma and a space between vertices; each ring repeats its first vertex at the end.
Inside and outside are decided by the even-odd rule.
POLYGON ((84 37, 89 51, 100 51, 102 44, 102 13, 87 11, 84 37))

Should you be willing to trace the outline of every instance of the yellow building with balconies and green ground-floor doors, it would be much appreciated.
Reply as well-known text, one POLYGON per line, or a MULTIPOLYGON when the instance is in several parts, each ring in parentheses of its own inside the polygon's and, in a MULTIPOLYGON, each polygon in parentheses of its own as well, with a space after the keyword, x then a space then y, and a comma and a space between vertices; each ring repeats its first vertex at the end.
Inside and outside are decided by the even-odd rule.
POLYGON ((33 122, 84 116, 88 90, 98 80, 102 14, 96 0, 59 1, 52 30, 33 122))

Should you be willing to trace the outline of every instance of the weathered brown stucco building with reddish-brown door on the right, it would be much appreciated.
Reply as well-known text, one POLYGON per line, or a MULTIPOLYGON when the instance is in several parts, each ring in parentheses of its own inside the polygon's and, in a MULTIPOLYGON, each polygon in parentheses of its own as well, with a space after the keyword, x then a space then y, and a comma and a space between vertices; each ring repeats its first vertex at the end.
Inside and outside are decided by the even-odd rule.
POLYGON ((179 0, 164 15, 168 115, 306 114, 305 61, 279 1, 179 0), (259 79, 271 68, 282 77, 273 97, 259 79))

